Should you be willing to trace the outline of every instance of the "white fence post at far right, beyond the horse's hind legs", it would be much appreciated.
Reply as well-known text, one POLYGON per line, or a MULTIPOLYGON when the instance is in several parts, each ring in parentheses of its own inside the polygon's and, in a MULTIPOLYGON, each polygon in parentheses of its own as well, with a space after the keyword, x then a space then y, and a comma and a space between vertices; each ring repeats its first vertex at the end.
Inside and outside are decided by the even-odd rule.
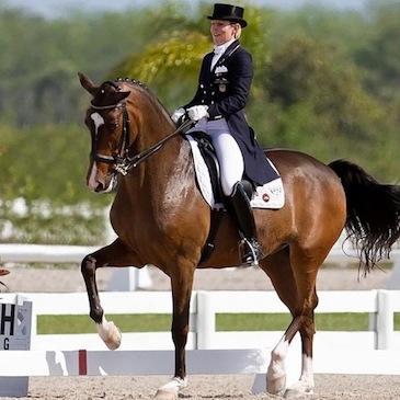
POLYGON ((393 307, 389 290, 378 290, 378 316, 376 324, 376 350, 390 350, 395 330, 393 307))

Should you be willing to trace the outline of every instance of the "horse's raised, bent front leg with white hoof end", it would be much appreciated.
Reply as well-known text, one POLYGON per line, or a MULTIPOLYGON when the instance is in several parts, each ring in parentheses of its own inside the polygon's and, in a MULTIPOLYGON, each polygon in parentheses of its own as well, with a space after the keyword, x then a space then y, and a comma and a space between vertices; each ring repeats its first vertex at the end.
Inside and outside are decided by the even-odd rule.
POLYGON ((121 345, 121 330, 113 321, 107 321, 104 317, 104 310, 100 304, 95 273, 98 267, 106 264, 112 265, 135 265, 134 254, 117 239, 112 244, 88 254, 81 263, 81 272, 87 286, 90 317, 96 324, 100 338, 110 350, 116 350, 121 345))

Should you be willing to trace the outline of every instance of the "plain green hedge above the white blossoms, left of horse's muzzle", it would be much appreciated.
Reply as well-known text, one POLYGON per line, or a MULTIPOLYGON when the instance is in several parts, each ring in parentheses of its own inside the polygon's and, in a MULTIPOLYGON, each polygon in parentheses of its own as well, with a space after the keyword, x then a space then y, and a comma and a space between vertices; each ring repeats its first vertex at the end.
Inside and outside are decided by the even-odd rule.
POLYGON ((104 206, 107 196, 85 187, 90 136, 83 124, 1 129, 0 193, 3 199, 52 201, 58 206, 91 201, 104 206))

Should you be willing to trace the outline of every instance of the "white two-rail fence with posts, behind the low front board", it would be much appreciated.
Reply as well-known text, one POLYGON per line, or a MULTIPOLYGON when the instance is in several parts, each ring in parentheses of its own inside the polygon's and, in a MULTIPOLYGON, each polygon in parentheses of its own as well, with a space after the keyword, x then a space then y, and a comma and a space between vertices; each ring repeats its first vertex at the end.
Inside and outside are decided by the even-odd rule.
MULTIPOLYGON (((101 293, 106 313, 171 315, 169 292, 101 293)), ((98 334, 37 334, 37 316, 89 313, 85 293, 2 294, 2 302, 33 302, 32 350, 104 350, 98 334)), ((369 315, 369 331, 317 332, 316 348, 343 346, 367 350, 400 350, 400 332, 393 330, 395 312, 400 312, 400 290, 320 292, 317 313, 355 312, 369 315)), ((287 313, 275 292, 194 292, 191 304, 187 348, 253 348, 276 344, 283 332, 221 332, 216 330, 217 313, 287 313)), ((89 318, 89 317, 88 317, 89 318)), ((134 317, 133 317, 134 318, 134 317)), ((296 343, 296 341, 295 341, 296 343)), ((296 344, 295 344, 296 345, 296 344)), ((124 332, 122 350, 172 350, 170 332, 124 332)))

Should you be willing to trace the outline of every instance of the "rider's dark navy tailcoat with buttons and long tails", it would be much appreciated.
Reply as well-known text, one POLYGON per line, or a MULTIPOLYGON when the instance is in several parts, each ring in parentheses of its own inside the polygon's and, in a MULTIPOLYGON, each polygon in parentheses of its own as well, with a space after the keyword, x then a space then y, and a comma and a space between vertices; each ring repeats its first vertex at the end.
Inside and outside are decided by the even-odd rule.
POLYGON ((197 91, 190 103, 207 105, 208 119, 226 118, 229 130, 237 140, 244 160, 244 178, 263 185, 277 178, 248 125, 244 107, 253 79, 251 54, 235 41, 212 69, 214 53, 208 53, 202 62, 197 91))

